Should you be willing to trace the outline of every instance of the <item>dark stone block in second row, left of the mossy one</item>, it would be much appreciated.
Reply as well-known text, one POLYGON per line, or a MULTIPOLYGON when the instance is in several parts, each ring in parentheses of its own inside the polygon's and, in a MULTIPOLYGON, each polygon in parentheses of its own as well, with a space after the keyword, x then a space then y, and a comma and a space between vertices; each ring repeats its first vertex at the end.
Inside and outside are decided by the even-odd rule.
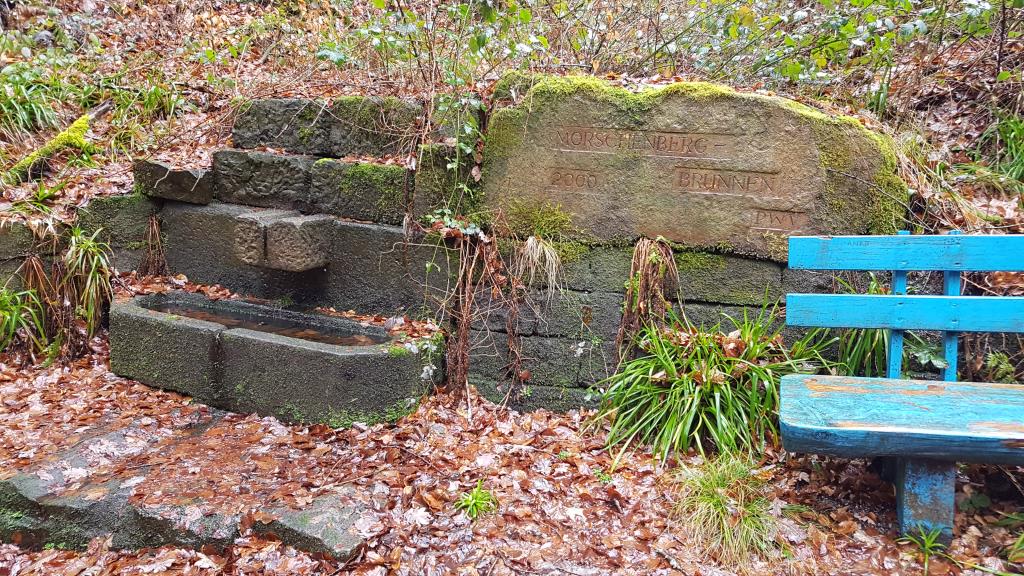
POLYGON ((309 205, 309 156, 220 150, 213 153, 215 196, 221 202, 301 210, 309 205))

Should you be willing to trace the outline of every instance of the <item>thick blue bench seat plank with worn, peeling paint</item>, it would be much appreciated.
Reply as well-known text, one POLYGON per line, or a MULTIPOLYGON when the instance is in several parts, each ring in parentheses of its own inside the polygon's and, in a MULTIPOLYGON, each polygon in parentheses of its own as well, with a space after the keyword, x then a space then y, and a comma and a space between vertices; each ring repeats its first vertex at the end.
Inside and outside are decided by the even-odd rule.
POLYGON ((1024 385, 790 375, 779 425, 791 452, 1024 464, 1024 385))

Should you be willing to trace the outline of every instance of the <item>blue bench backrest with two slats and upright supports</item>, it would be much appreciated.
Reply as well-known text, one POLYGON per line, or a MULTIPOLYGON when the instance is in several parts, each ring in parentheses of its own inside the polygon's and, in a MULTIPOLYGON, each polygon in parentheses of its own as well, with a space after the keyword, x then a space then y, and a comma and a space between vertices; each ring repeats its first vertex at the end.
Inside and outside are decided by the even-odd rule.
POLYGON ((1024 297, 961 296, 965 272, 1024 272, 1024 235, 791 237, 790 268, 892 271, 892 293, 787 294, 785 321, 793 326, 890 330, 890 378, 903 366, 903 331, 942 332, 946 368, 956 380, 959 332, 1024 332, 1024 297), (943 273, 943 295, 906 294, 906 273, 943 273))

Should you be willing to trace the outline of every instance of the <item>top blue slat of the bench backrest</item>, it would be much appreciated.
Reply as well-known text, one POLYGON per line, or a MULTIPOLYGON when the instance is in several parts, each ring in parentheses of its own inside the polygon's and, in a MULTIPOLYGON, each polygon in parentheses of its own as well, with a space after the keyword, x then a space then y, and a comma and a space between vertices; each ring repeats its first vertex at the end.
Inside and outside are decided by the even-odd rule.
POLYGON ((1024 271, 1024 235, 794 236, 790 268, 858 271, 1024 271))

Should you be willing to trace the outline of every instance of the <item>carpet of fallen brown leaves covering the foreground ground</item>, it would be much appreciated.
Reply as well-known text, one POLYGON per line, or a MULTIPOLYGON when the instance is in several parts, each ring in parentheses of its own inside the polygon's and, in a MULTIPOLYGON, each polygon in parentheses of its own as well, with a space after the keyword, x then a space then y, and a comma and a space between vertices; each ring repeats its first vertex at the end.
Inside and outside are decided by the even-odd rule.
MULTIPOLYGON (((125 480, 145 466, 150 472, 133 481, 137 505, 239 515, 244 526, 265 521, 275 506, 302 507, 344 486, 352 489, 351 503, 364 508, 356 529, 367 538, 345 567, 250 536, 220 552, 112 551, 103 541, 84 552, 6 545, 0 574, 721 573, 676 530, 669 477, 644 453, 613 468, 603 433, 587 431, 585 413, 519 414, 473 397, 468 420, 465 403, 434 396, 396 425, 336 430, 255 415, 220 418, 188 399, 111 374, 101 346, 68 366, 17 371, 0 365, 0 397, 4 474, 52 458, 100 424, 132 426, 147 442, 103 453, 78 474, 90 482, 125 480), (197 422, 206 424, 202 434, 184 434, 197 422), (453 503, 478 480, 499 509, 474 523, 453 503)), ((911 569, 910 550, 892 540, 892 489, 863 463, 783 454, 770 461, 777 463, 765 474, 775 486, 777 512, 790 517, 781 520, 779 538, 792 560, 756 563, 753 573, 911 569), (786 504, 806 507, 787 515, 786 504)), ((977 484, 979 475, 974 470, 968 480, 977 484)), ((999 562, 1010 534, 994 526, 993 510, 1013 510, 1021 499, 1008 498, 987 516, 957 517, 964 536, 955 558, 999 562)))

